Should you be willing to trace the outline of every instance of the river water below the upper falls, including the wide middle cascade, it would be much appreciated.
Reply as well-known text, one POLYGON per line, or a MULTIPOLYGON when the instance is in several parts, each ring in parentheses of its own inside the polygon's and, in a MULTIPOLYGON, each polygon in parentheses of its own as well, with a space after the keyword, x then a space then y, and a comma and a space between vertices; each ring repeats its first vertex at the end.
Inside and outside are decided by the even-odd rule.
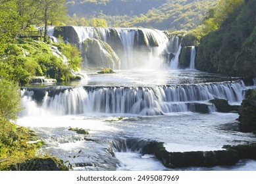
MULTIPOLYGON (((74 170, 170 170, 153 155, 141 154, 140 149, 131 149, 128 145, 132 141, 161 141, 172 152, 219 150, 224 145, 255 143, 253 133, 239 131, 237 113, 217 112, 208 103, 214 97, 226 97, 230 104, 241 103, 244 92, 249 87, 238 78, 196 70, 116 70, 116 74, 86 71, 86 74, 88 79, 84 81, 58 83, 50 88, 45 85, 24 88, 24 111, 17 122, 20 126, 36 131, 40 139, 45 141, 46 145, 38 154, 57 156, 66 164, 72 165, 74 170), (52 89, 57 90, 59 85, 68 89, 61 89, 58 94, 45 95, 51 94, 52 89), (118 103, 119 97, 117 92, 113 92, 113 88, 122 89, 121 98, 130 97, 124 95, 126 88, 130 90, 127 93, 136 94, 134 104, 126 104, 120 109, 116 104, 113 105, 118 103), (176 99, 168 99, 169 88, 182 88, 182 92, 173 93, 178 94, 176 99), (36 89, 45 90, 41 102, 33 98, 36 89), (76 95, 73 93, 74 89, 78 89, 76 95), (99 97, 93 95, 99 95, 101 89, 112 90, 111 97, 102 93, 100 97, 105 97, 106 100, 93 101, 93 97, 99 97), (158 89, 163 90, 159 93, 156 92, 158 89), (216 92, 220 89, 223 89, 223 94, 216 92), (230 89, 232 92, 228 92, 230 89), (195 95, 193 91, 197 91, 196 94, 199 95, 195 95), (85 93, 86 97, 81 95, 85 93), (142 95, 138 97, 138 93, 142 95), (149 97, 153 94, 153 102, 146 101, 146 94, 149 97), (60 97, 72 101, 61 104, 62 108, 56 104, 62 103, 58 100, 60 97), (78 97, 87 99, 74 99, 78 97), (107 105, 108 98, 111 105, 107 105), (196 112, 192 108, 194 103, 209 105, 209 113, 196 112), (180 104, 182 108, 174 108, 180 104), (79 110, 73 109, 76 105, 79 110), (87 111, 87 108, 94 105, 87 111), (72 109, 66 110, 70 106, 72 109), (157 111, 150 113, 156 108, 157 111), (77 134, 68 130, 70 127, 87 129, 89 135, 77 134)), ((240 160, 236 166, 179 170, 256 170, 256 162, 240 160)))

